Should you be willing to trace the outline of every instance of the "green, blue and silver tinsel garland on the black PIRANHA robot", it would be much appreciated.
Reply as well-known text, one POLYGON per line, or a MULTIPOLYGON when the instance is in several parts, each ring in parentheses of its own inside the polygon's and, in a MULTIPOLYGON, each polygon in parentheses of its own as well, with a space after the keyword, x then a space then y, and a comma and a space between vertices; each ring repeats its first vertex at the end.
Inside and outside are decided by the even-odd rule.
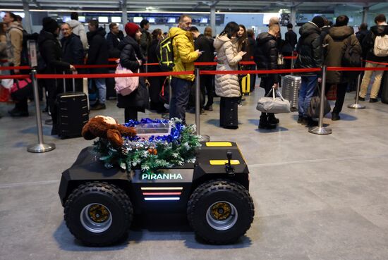
POLYGON ((99 160, 107 168, 119 166, 131 171, 140 168, 143 172, 152 173, 159 168, 181 166, 195 161, 195 148, 200 147, 200 136, 195 134, 195 125, 183 125, 182 121, 143 118, 140 122, 130 120, 125 125, 133 127, 141 123, 170 123, 171 132, 166 136, 151 136, 149 140, 135 137, 123 137, 121 149, 115 149, 106 139, 95 141, 95 151, 100 154, 99 160))

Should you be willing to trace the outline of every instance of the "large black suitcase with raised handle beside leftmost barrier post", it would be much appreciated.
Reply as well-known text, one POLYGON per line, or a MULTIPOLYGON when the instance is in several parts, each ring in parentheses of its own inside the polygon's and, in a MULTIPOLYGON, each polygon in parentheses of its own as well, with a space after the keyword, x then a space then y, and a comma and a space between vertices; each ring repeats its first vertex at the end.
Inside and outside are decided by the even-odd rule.
POLYGON ((64 93, 56 96, 58 105, 58 135, 61 139, 80 137, 83 126, 89 120, 87 96, 83 92, 66 92, 66 82, 63 80, 64 93))

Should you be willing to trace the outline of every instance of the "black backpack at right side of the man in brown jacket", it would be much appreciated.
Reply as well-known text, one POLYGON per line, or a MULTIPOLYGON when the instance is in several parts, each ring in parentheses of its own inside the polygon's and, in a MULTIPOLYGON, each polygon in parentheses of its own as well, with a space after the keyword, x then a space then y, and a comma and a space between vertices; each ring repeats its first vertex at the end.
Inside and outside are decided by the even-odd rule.
MULTIPOLYGON (((363 54, 356 50, 354 45, 351 44, 351 36, 345 42, 344 55, 341 60, 342 67, 359 68, 363 66, 363 54)), ((348 79, 357 78, 360 71, 344 71, 342 75, 348 79)))

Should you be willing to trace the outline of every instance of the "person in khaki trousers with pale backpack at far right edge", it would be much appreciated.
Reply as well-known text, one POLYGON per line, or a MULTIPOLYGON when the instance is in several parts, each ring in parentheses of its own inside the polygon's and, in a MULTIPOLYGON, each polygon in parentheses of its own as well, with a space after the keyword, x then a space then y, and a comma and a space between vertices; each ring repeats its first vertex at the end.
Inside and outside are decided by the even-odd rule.
MULTIPOLYGON (((375 26, 370 27, 368 35, 363 39, 363 47, 367 50, 365 68, 384 68, 384 64, 388 62, 388 25, 386 18, 383 14, 375 17, 375 26)), ((370 103, 377 102, 377 94, 379 94, 382 75, 382 70, 367 70, 365 71, 363 82, 361 83, 361 89, 359 100, 364 101, 368 92, 368 86, 372 78, 372 74, 375 73, 375 81, 373 82, 372 89, 370 89, 370 103)))

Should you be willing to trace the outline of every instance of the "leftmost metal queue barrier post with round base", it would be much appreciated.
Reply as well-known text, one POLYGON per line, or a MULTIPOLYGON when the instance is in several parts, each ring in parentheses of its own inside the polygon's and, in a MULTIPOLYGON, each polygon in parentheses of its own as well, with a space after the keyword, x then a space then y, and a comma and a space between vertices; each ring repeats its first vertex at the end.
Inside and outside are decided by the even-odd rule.
POLYGON ((37 118, 37 144, 31 144, 27 147, 27 151, 32 153, 43 153, 55 149, 55 144, 44 144, 42 131, 42 114, 40 112, 39 92, 37 89, 37 70, 31 71, 32 86, 34 87, 35 113, 37 118))

